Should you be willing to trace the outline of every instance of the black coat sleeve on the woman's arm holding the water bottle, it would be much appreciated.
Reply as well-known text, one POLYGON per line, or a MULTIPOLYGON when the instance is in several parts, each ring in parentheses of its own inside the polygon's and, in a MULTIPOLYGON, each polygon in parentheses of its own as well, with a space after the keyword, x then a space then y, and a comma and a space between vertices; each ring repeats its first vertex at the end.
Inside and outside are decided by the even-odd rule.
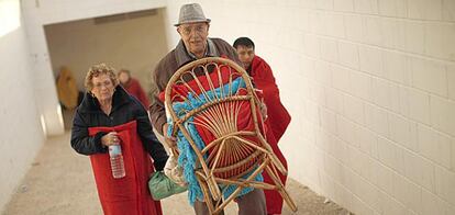
POLYGON ((100 132, 90 137, 88 134, 88 125, 84 122, 79 111, 76 111, 71 128, 71 147, 77 152, 82 155, 107 152, 107 147, 101 144, 101 137, 106 134, 107 133, 100 132))

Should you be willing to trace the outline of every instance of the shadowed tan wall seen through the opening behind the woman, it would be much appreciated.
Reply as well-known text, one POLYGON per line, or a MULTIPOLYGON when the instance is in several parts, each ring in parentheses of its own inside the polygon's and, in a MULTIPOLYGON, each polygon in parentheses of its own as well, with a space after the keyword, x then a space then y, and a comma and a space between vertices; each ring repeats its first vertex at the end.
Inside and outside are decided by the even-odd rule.
POLYGON ((115 69, 131 70, 148 91, 151 70, 167 53, 163 10, 155 11, 146 16, 101 24, 88 19, 46 26, 54 77, 58 76, 62 66, 67 66, 79 90, 85 91, 88 68, 107 63, 115 69))

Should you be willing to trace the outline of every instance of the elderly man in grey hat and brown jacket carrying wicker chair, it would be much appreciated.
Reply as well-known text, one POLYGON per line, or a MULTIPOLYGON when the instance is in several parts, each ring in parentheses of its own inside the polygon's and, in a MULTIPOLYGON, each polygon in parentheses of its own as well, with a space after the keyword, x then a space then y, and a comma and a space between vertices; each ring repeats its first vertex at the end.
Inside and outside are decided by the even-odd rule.
MULTIPOLYGON (((167 123, 163 102, 158 93, 164 91, 167 82, 174 72, 181 66, 204 57, 228 57, 241 65, 235 49, 221 38, 209 38, 210 20, 206 18, 202 8, 197 3, 185 4, 180 8, 177 32, 180 42, 177 47, 168 53, 153 71, 153 79, 158 92, 155 94, 155 102, 151 105, 151 121, 158 133, 165 135, 167 142, 175 142, 166 135, 167 123)), ((236 199, 238 214, 265 215, 264 191, 253 190, 252 192, 236 199)), ((196 214, 209 214, 206 203, 195 202, 196 214)))

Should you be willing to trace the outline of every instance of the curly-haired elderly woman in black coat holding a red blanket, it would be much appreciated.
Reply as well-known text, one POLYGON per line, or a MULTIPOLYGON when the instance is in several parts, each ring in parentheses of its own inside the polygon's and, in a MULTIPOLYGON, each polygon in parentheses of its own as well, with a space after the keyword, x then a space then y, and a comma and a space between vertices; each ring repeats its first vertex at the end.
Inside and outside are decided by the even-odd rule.
POLYGON ((168 156, 152 132, 147 112, 119 86, 115 70, 104 64, 90 67, 85 86, 87 93, 73 123, 71 146, 90 156, 104 214, 162 214, 147 181, 154 169, 163 170, 168 156), (112 176, 111 145, 121 146, 122 178, 112 176))

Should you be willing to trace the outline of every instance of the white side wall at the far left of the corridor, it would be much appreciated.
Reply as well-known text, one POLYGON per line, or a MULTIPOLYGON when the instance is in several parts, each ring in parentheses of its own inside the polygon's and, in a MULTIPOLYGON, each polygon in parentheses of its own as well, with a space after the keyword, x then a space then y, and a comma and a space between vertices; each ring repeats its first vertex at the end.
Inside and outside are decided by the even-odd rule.
POLYGON ((0 213, 44 142, 19 0, 0 1, 0 213))

